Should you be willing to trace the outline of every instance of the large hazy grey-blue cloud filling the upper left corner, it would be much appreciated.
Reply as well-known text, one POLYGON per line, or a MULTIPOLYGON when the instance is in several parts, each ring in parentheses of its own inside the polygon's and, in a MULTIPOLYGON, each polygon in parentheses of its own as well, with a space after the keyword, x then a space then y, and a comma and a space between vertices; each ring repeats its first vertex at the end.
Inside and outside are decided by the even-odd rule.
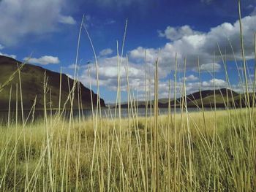
POLYGON ((20 38, 56 31, 58 23, 74 24, 64 15, 67 0, 2 0, 0 1, 0 42, 15 45, 20 38))

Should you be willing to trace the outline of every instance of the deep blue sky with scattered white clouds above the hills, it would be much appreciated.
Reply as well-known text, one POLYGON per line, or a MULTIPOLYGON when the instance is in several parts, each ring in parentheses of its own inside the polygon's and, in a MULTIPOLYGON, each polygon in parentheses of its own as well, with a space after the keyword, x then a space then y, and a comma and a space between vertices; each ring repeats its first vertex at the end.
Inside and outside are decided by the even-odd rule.
MULTIPOLYGON (((244 91, 238 3, 235 0, 0 0, 0 55, 18 61, 29 58, 30 64, 55 72, 62 70, 73 77, 83 15, 84 26, 97 54, 100 96, 106 103, 116 101, 118 59, 121 64, 121 98, 127 100, 127 58, 129 84, 138 99, 145 99, 145 53, 148 87, 151 82, 153 88, 154 63, 157 58, 159 61, 160 98, 168 96, 169 80, 171 87, 174 84, 176 55, 177 85, 181 89, 185 79, 187 93, 198 91, 200 86, 204 90, 213 89, 214 84, 216 88, 244 91), (184 58, 187 59, 185 78, 184 58), (227 61, 230 83, 225 77, 222 58, 227 61)), ((241 18, 247 75, 249 87, 252 87, 255 0, 241 1, 241 18)), ((86 87, 91 81, 96 92, 94 53, 84 28, 78 64, 79 80, 86 87)))

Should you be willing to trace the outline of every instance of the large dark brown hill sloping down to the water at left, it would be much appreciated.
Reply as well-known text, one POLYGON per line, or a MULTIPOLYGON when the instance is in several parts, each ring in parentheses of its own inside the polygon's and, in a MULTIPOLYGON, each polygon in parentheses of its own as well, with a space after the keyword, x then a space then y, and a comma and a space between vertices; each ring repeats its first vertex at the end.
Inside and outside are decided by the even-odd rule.
MULTIPOLYGON (((13 58, 8 58, 0 55, 0 84, 6 82, 13 72, 17 69, 17 65, 20 66, 20 61, 16 61, 13 58)), ((43 82, 44 77, 48 77, 48 93, 47 93, 47 107, 50 108, 50 92, 51 101, 53 108, 59 108, 59 85, 60 85, 60 74, 52 72, 48 69, 43 69, 40 66, 34 66, 31 64, 25 64, 21 69, 21 84, 23 93, 23 108, 29 110, 34 103, 34 99, 37 96, 36 109, 43 109, 44 107, 44 91, 43 82)), ((64 106, 64 102, 69 96, 69 89, 72 88, 74 80, 67 77, 66 74, 61 74, 61 107, 64 106)), ((7 110, 10 99, 10 87, 12 85, 12 98, 11 107, 15 109, 16 103, 16 83, 19 85, 18 73, 15 74, 14 78, 8 83, 7 86, 0 92, 0 110, 7 110)), ((83 108, 91 108, 91 93, 89 88, 80 85, 80 99, 83 104, 83 108)), ((1 87, 1 86, 0 86, 1 87)), ((93 104, 97 104, 97 94, 92 92, 93 104)), ((18 102, 20 106, 20 91, 18 92, 18 102)), ((105 107, 105 101, 100 99, 102 107, 105 107)), ((67 109, 70 107, 70 101, 67 101, 67 109)), ((78 109, 78 88, 75 90, 74 109, 78 109)))

